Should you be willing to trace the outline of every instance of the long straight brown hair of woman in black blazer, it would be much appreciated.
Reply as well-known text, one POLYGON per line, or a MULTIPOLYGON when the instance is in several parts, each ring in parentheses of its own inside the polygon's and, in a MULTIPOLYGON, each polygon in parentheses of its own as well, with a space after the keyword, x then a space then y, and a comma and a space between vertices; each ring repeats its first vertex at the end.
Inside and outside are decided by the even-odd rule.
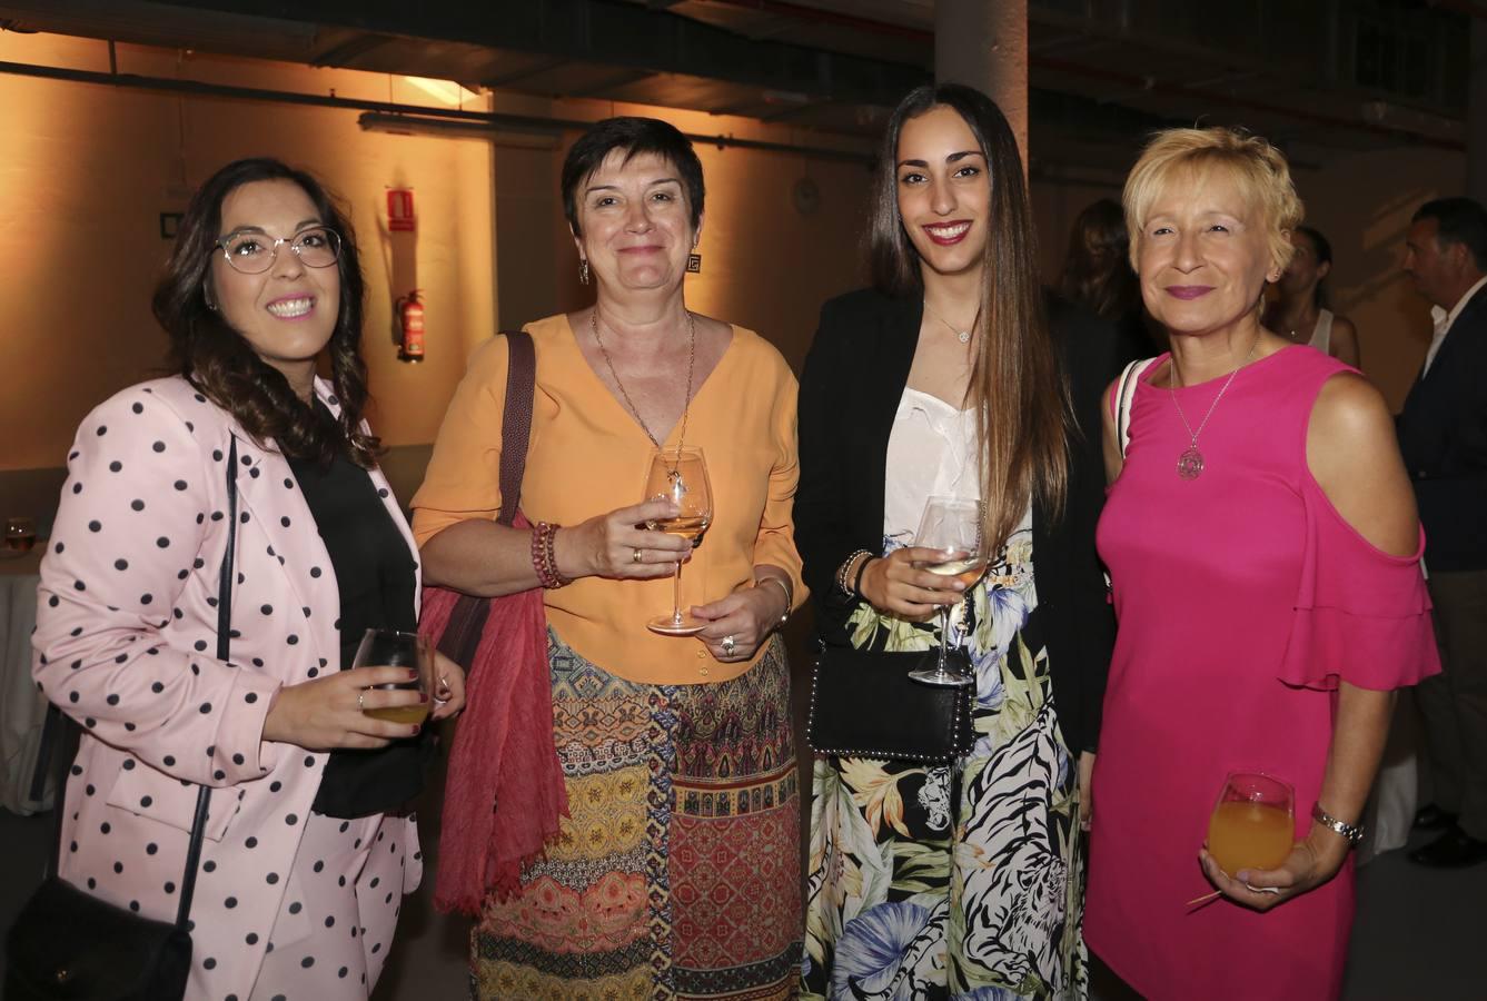
POLYGON ((1038 248, 1022 156, 1007 118, 968 86, 941 83, 910 91, 888 120, 877 161, 868 262, 873 284, 892 296, 923 293, 919 251, 898 214, 898 135, 904 122, 949 107, 971 129, 990 174, 990 220, 981 259, 981 339, 967 405, 975 409, 981 449, 986 538, 999 549, 1030 500, 1057 518, 1069 485, 1069 393, 1048 336, 1038 248))

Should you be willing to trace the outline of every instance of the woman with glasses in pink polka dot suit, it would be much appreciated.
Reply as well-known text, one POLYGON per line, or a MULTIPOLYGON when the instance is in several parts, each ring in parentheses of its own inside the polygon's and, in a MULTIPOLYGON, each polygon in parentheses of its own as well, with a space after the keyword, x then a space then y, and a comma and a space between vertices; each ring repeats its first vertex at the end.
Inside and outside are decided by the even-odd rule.
MULTIPOLYGON (((61 876, 174 919, 211 787, 192 1000, 366 998, 422 872, 400 806, 428 735, 361 709, 430 696, 366 690, 406 668, 343 669, 366 628, 413 629, 418 595, 361 419, 361 297, 354 235, 314 178, 266 159, 211 177, 155 296, 178 375, 83 419, 42 562, 33 674, 83 727, 61 876)), ((464 677, 437 669, 442 718, 464 677)))

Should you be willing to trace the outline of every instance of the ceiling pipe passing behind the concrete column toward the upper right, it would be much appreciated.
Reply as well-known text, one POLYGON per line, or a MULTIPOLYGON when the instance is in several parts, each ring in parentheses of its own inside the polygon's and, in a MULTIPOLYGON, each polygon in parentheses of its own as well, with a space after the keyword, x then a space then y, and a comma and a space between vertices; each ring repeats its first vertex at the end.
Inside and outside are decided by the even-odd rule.
MULTIPOLYGON (((809 21, 813 24, 828 24, 846 28, 858 28, 861 31, 892 36, 897 39, 912 39, 915 42, 923 42, 929 45, 934 43, 934 31, 912 28, 903 24, 889 24, 886 21, 874 21, 871 18, 864 18, 852 13, 837 13, 834 10, 819 10, 815 7, 804 7, 799 3, 787 3, 784 0, 700 0, 700 1, 720 7, 736 7, 741 10, 754 10, 758 13, 773 13, 785 18, 809 21)), ((1475 3, 1472 0, 1436 0, 1436 3, 1438 6, 1447 6, 1456 10, 1471 13, 1472 16, 1487 16, 1487 4, 1475 3)), ((1135 88, 1139 91, 1149 91, 1157 94, 1169 94, 1173 97, 1210 101, 1228 107, 1249 109, 1252 112, 1264 112, 1267 115, 1282 115, 1285 118, 1291 118, 1298 122, 1307 122, 1310 125, 1326 125, 1329 128, 1361 129, 1378 135, 1405 137, 1420 143, 1422 146, 1433 146, 1436 149, 1447 149, 1457 153, 1466 152, 1466 143, 1463 141, 1436 138, 1433 135, 1423 135, 1420 132, 1413 132, 1402 128, 1392 128, 1389 125, 1368 122, 1362 118, 1352 119, 1335 115, 1322 115, 1317 112, 1307 112, 1292 106, 1270 104, 1268 101, 1240 98, 1231 94, 1185 86, 1182 83, 1166 83, 1154 77, 1145 77, 1135 73, 1121 73, 1120 70, 1105 70, 1100 67, 1086 65, 1083 62, 1074 62, 1071 59, 1059 59, 1056 57, 1035 55, 1032 52, 1029 52, 1028 55, 1028 62, 1033 68, 1056 70, 1059 73, 1084 76, 1091 80, 1123 83, 1129 88, 1135 88)))

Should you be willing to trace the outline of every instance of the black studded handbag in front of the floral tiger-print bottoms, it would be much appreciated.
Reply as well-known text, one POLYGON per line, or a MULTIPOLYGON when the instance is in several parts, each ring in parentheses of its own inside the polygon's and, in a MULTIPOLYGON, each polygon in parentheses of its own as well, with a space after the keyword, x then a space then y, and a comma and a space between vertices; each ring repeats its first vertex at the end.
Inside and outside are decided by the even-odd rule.
POLYGON ((806 739, 818 754, 944 765, 975 744, 975 686, 932 686, 909 677, 929 653, 828 646, 810 677, 806 739))

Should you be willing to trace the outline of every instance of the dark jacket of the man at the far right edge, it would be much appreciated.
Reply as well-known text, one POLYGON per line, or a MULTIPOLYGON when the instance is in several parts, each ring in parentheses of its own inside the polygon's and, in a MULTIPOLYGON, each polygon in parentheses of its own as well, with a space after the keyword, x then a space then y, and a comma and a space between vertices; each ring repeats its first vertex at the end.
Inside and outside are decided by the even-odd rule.
POLYGON ((1399 413, 1430 570, 1487 570, 1487 287, 1456 317, 1399 413))

